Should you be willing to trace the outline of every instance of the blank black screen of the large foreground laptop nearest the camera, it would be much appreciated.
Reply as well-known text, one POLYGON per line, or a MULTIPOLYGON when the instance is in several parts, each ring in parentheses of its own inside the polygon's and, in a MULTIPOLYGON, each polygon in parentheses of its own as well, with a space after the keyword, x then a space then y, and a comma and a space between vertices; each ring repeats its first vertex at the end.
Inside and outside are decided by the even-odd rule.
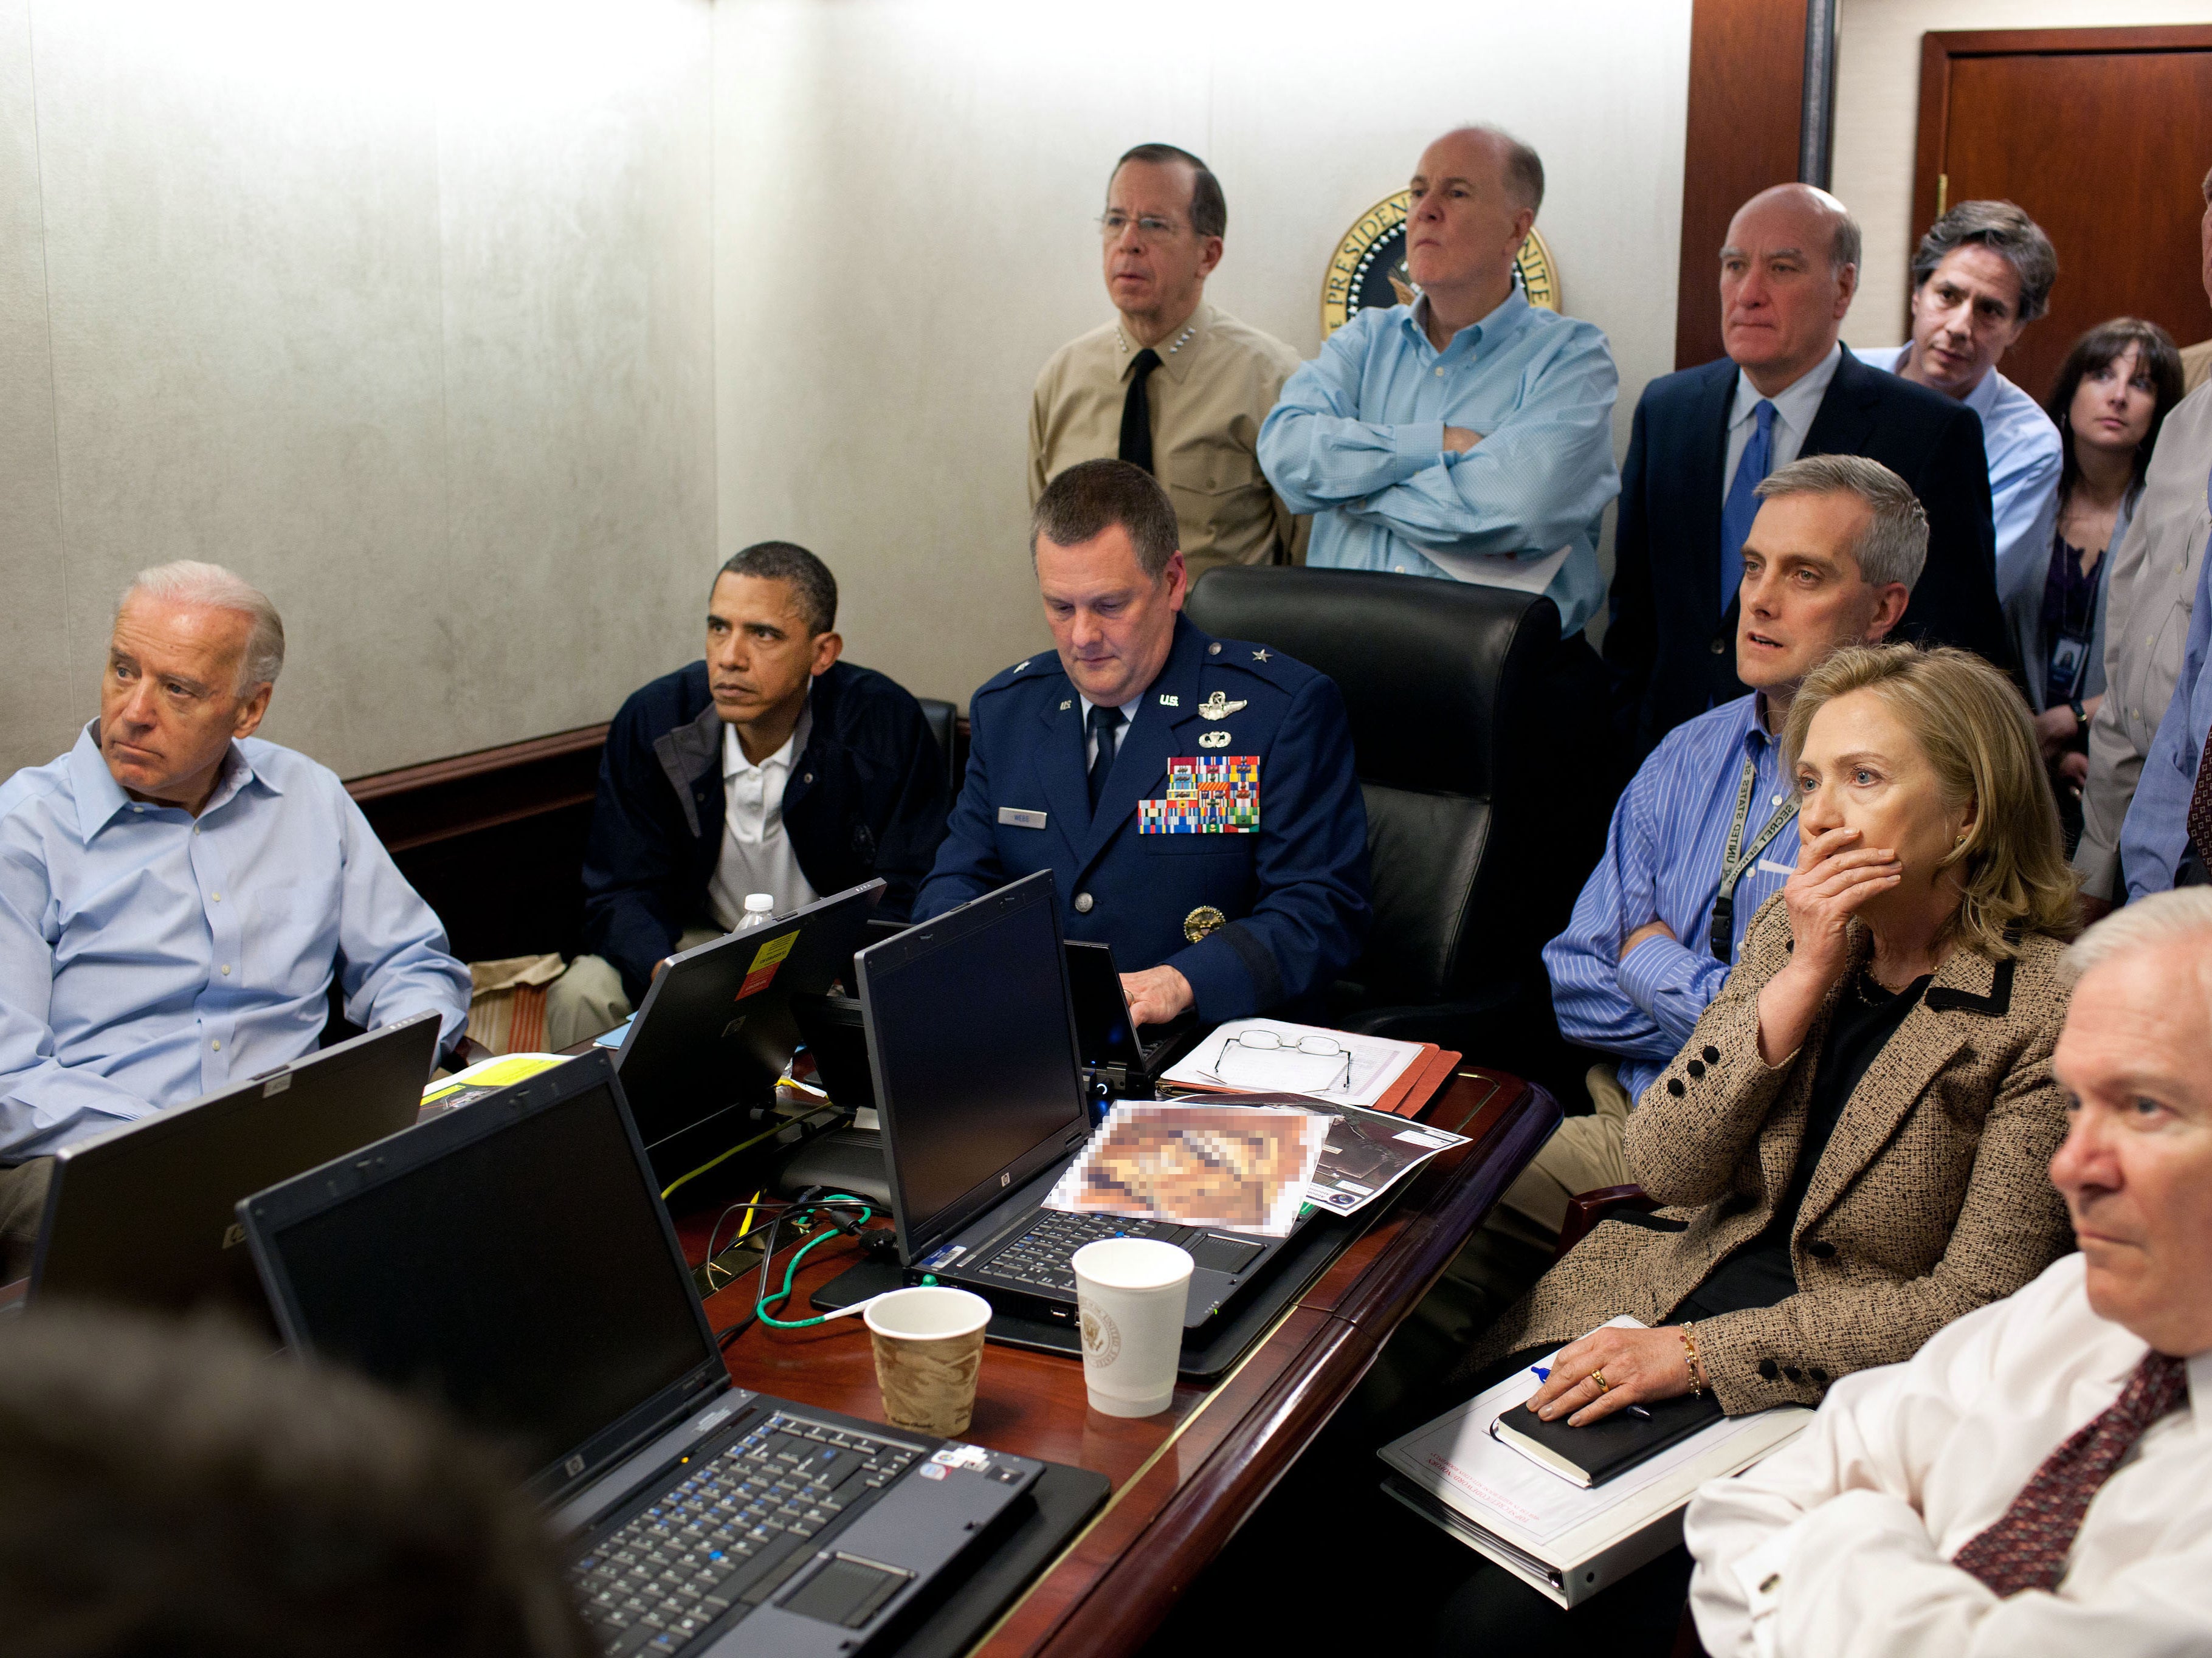
POLYGON ((728 1382, 604 1052, 239 1205, 285 1340, 553 1494, 728 1382))

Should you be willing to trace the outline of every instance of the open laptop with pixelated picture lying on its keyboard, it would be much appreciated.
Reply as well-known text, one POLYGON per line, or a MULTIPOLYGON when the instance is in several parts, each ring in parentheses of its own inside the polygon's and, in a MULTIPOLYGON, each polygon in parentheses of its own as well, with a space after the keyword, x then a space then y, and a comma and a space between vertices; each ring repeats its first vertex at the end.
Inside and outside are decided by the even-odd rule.
POLYGON ((909 1280, 1073 1324, 1077 1249, 1164 1238, 1197 1262, 1183 1320, 1197 1329, 1281 1247, 1040 1207, 1091 1132, 1053 871, 863 951, 860 1006, 909 1280))

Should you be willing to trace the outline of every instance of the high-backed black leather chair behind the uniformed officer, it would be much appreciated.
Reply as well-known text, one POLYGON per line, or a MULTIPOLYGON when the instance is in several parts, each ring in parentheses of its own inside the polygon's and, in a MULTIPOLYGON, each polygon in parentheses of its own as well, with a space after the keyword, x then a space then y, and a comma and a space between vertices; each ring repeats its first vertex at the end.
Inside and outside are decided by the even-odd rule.
POLYGON ((1557 707, 1551 599, 1367 570, 1223 568, 1188 608, 1208 632, 1318 668, 1345 696, 1374 928, 1332 1021, 1548 1081, 1559 1039, 1540 953, 1595 856, 1568 822, 1588 814, 1562 805, 1588 798, 1601 765, 1601 721, 1579 752, 1557 736, 1582 712, 1557 707))

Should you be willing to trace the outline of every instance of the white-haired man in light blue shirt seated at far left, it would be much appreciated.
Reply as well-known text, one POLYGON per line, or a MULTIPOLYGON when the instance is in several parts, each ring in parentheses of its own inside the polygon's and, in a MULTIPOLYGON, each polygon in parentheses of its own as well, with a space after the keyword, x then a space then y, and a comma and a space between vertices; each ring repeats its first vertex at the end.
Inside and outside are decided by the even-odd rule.
POLYGON ((469 1021, 469 970, 332 772, 252 736, 274 606, 212 564, 124 592, 100 718, 0 785, 0 1245, 44 1158, 312 1052, 330 1017, 469 1021))

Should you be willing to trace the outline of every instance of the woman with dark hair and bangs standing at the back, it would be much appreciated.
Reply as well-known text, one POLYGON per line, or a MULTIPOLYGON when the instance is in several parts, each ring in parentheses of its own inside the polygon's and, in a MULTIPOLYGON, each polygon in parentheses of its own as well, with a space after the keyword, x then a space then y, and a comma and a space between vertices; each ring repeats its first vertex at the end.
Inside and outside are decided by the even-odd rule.
POLYGON ((2104 555, 2128 528, 2159 427, 2177 402, 2181 354, 2163 327, 2135 316, 2075 340, 2051 385, 2046 411, 2064 447, 2051 555, 2004 595, 2004 615, 2068 853, 2081 838, 2088 721, 2104 696, 2104 555))

